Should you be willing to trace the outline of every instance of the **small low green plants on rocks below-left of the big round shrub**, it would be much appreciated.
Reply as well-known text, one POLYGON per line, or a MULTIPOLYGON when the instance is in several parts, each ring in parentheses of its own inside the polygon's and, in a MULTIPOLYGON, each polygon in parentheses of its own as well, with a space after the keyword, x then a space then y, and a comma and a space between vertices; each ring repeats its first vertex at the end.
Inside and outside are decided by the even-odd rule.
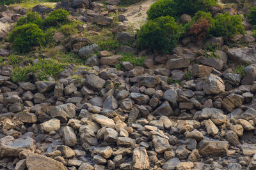
MULTIPOLYGON (((145 57, 134 57, 132 53, 121 53, 122 58, 120 62, 129 61, 133 66, 143 66, 145 57)), ((121 64, 117 64, 116 69, 122 69, 121 64)))

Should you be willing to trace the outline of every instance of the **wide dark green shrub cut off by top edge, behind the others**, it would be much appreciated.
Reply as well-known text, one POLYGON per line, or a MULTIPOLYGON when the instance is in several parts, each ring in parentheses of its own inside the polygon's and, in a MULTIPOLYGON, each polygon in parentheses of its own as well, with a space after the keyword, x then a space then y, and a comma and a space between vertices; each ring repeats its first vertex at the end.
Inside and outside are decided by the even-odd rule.
POLYGON ((178 19, 186 13, 192 17, 197 11, 209 11, 216 4, 216 0, 159 0, 147 11, 150 20, 170 15, 178 19))

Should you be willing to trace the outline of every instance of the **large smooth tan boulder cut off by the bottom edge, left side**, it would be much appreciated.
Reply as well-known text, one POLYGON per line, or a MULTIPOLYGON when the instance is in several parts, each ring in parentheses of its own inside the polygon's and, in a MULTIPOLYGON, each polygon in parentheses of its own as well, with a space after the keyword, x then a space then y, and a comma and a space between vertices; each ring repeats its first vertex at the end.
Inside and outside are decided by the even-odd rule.
POLYGON ((26 165, 28 170, 51 170, 51 169, 60 169, 66 170, 66 167, 58 162, 57 160, 45 157, 43 155, 29 155, 26 159, 26 165))

